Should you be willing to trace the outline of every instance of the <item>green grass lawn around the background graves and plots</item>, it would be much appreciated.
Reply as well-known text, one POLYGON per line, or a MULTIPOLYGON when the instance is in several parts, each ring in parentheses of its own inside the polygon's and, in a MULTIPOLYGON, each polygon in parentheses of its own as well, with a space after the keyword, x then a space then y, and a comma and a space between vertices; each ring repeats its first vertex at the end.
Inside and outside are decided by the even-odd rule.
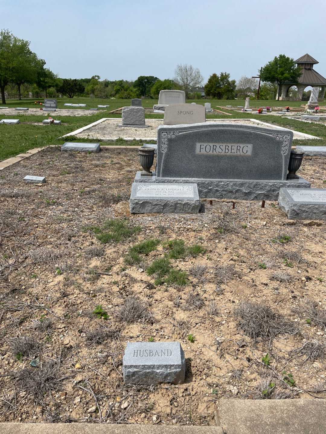
MULTIPOLYGON (((43 100, 40 100, 43 101, 43 100)), ((19 100, 8 100, 8 106, 10 107, 37 107, 34 105, 34 99, 23 99, 19 100)), ((58 107, 64 108, 63 104, 65 102, 75 103, 75 104, 87 104, 87 108, 97 107, 98 104, 105 105, 109 104, 110 107, 108 110, 101 110, 99 112, 94 112, 94 115, 91 116, 58 116, 53 115, 54 118, 60 118, 60 120, 67 125, 49 125, 49 126, 40 126, 40 125, 31 125, 30 122, 42 122, 45 118, 43 115, 24 115, 23 112, 17 112, 17 115, 6 116, 5 110, 0 110, 0 119, 2 118, 14 118, 20 119, 19 125, 0 125, 0 161, 6 158, 13 157, 22 152, 26 152, 29 149, 38 148, 47 145, 62 145, 65 140, 58 140, 58 137, 72 132, 78 128, 81 128, 85 125, 90 124, 91 122, 95 122, 100 118, 106 117, 121 117, 121 115, 109 114, 111 110, 118 109, 123 107, 124 105, 130 105, 131 101, 126 99, 96 99, 96 98, 60 98, 58 99, 58 107), (24 122, 29 122, 25 124, 24 122)), ((187 102, 196 102, 197 104, 204 104, 205 102, 210 102, 213 108, 219 106, 226 105, 244 105, 244 100, 189 100, 187 102)), ((153 107, 157 101, 154 99, 144 99, 143 107, 153 107)), ((270 105, 270 106, 300 106, 303 104, 301 101, 250 101, 250 105, 252 107, 258 107, 261 105, 270 105)), ((81 108, 83 109, 83 108, 81 108)), ((260 119, 263 122, 270 122, 276 125, 284 126, 286 128, 295 129, 297 131, 316 135, 321 137, 322 140, 296 140, 293 141, 294 145, 326 145, 326 126, 319 124, 310 124, 305 122, 300 122, 291 119, 285 119, 276 117, 273 115, 256 115, 253 113, 242 113, 242 112, 234 112, 224 110, 225 112, 229 112, 231 114, 230 119, 232 118, 256 118, 260 119)), ((207 115, 207 118, 226 118, 226 115, 207 115)), ((163 115, 160 114, 150 114, 146 115, 146 118, 163 118, 163 115)), ((70 137, 69 141, 90 141, 89 139, 81 139, 77 137, 70 137)), ((147 142, 150 142, 146 140, 147 142)), ((116 145, 141 145, 142 141, 126 141, 122 138, 117 139, 116 141, 110 141, 106 144, 116 144, 116 145)))

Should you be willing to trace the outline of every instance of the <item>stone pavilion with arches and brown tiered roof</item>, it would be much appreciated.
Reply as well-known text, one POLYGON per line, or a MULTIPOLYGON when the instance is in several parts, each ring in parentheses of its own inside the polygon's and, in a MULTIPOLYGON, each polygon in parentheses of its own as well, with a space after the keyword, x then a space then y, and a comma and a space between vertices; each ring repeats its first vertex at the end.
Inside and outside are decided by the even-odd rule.
POLYGON ((294 62, 302 69, 301 77, 299 78, 298 83, 287 82, 282 85, 281 95, 279 97, 280 101, 301 101, 303 91, 307 86, 318 87, 320 89, 318 101, 323 101, 326 79, 313 69, 313 66, 319 63, 318 60, 314 59, 309 54, 305 54, 294 62), (289 89, 292 86, 296 86, 298 89, 296 98, 289 96, 289 89))

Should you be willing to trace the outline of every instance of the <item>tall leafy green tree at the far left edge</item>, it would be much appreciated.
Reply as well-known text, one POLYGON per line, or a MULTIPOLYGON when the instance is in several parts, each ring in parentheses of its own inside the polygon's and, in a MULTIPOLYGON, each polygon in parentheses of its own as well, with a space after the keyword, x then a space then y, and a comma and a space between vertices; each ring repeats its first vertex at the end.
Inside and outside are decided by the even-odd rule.
POLYGON ((14 36, 9 30, 0 31, 0 91, 6 104, 4 89, 10 83, 20 85, 33 81, 33 62, 37 56, 29 49, 30 43, 14 36))

